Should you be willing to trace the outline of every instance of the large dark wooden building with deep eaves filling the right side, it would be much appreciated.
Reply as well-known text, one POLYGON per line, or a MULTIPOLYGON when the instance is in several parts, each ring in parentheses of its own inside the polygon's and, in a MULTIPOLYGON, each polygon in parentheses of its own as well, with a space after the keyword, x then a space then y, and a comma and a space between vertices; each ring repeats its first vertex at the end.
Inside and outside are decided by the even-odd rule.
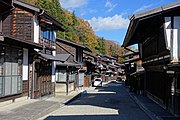
POLYGON ((180 116, 180 2, 137 13, 124 47, 138 44, 145 69, 145 92, 164 108, 180 116))

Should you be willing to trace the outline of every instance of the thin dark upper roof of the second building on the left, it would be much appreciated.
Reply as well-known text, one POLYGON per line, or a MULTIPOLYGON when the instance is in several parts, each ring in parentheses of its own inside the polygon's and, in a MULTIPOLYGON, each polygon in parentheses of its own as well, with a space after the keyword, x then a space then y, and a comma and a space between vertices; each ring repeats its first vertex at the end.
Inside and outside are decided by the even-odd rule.
POLYGON ((80 48, 82 48, 85 51, 92 52, 87 46, 80 45, 80 44, 72 42, 70 40, 65 40, 65 39, 62 39, 62 38, 57 38, 56 41, 57 42, 62 42, 64 44, 68 44, 68 45, 73 46, 73 47, 80 47, 80 48))

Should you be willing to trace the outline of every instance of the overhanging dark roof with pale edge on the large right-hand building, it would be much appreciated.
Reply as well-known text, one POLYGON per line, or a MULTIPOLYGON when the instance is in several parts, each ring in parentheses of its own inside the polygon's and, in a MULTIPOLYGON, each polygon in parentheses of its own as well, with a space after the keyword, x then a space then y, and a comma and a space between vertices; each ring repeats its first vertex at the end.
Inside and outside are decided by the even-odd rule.
MULTIPOLYGON (((122 47, 127 47, 127 46, 138 43, 138 40, 137 40, 138 37, 137 36, 134 37, 134 34, 143 21, 149 20, 146 22, 146 25, 150 26, 150 23, 154 20, 155 17, 159 16, 160 18, 158 20, 160 21, 160 20, 162 20, 161 17, 163 17, 166 14, 172 12, 173 10, 177 10, 177 9, 180 9, 179 1, 132 15, 130 18, 130 24, 129 24, 122 47)), ((176 12, 176 14, 179 15, 179 12, 176 12)), ((141 26, 143 27, 143 24, 141 26)), ((152 27, 152 26, 150 26, 150 27, 152 27)), ((141 35, 139 35, 139 36, 141 36, 141 35)))

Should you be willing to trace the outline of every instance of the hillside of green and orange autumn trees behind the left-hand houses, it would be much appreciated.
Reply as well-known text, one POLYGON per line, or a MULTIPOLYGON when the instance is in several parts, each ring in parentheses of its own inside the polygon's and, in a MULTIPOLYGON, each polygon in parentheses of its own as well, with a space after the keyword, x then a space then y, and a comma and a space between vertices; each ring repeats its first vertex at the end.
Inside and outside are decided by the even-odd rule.
POLYGON ((88 46, 93 53, 121 56, 124 53, 118 44, 95 35, 88 21, 79 18, 75 12, 63 10, 59 0, 23 0, 47 11, 62 23, 64 32, 58 31, 57 37, 88 46))

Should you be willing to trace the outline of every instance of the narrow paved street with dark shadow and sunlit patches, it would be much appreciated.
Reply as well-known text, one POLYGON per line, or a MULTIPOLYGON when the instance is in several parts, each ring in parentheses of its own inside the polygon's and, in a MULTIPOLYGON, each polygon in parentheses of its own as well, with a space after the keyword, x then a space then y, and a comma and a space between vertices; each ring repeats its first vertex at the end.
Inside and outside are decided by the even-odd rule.
POLYGON ((68 105, 41 118, 46 120, 149 120, 121 84, 88 91, 68 105))

